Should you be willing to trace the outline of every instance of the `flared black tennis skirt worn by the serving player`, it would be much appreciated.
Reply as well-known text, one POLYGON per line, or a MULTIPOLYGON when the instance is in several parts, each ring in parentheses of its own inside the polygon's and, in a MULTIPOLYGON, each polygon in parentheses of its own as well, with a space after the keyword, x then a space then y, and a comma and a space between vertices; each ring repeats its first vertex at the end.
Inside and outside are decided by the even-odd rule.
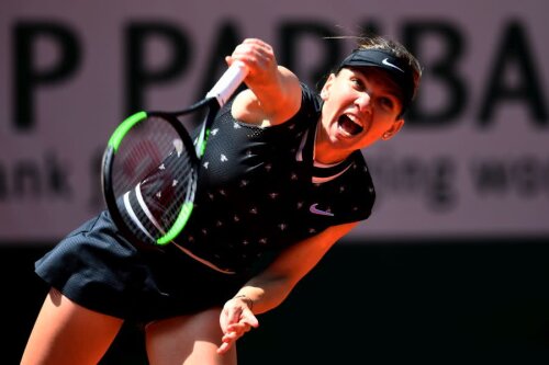
POLYGON ((221 307, 247 281, 219 273, 172 244, 133 244, 108 212, 69 233, 35 269, 72 301, 143 322, 221 307))

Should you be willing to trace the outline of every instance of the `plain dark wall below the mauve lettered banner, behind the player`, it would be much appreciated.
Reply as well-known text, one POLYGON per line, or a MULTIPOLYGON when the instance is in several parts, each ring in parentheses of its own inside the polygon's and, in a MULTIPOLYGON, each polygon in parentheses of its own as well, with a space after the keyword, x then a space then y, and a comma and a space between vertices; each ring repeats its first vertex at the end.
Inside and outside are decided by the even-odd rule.
MULTIPOLYGON (((46 287, 45 246, 2 244, 2 364, 19 364, 46 287)), ((260 328, 240 364, 541 364, 549 239, 337 244, 260 328)), ((146 364, 127 326, 102 362, 146 364)))

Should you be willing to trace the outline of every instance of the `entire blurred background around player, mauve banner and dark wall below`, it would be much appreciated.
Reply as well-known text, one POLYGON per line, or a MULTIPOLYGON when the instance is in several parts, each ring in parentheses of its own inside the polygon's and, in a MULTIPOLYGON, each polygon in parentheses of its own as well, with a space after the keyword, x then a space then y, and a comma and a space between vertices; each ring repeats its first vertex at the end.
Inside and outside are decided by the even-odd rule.
MULTIPOLYGON (((316 85, 373 31, 424 66, 404 129, 363 153, 378 202, 240 364, 549 361, 549 46, 541 0, 0 3, 2 364, 47 288, 34 261, 103 208, 114 126, 201 98, 245 37, 316 85)), ((102 364, 146 364, 123 328, 102 364)))

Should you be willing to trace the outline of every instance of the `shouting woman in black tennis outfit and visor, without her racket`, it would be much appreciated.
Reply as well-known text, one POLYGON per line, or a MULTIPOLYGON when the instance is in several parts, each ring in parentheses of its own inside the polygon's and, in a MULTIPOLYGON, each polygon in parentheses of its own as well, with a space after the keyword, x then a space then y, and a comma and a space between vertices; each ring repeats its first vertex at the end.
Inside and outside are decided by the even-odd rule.
POLYGON ((124 320, 146 323, 150 364, 236 364, 256 315, 369 217, 360 150, 402 128, 417 60, 397 43, 361 39, 320 95, 260 39, 238 45, 226 58, 236 60, 248 88, 212 127, 182 237, 130 242, 107 212, 70 233, 36 263, 52 289, 22 364, 97 364, 124 320))

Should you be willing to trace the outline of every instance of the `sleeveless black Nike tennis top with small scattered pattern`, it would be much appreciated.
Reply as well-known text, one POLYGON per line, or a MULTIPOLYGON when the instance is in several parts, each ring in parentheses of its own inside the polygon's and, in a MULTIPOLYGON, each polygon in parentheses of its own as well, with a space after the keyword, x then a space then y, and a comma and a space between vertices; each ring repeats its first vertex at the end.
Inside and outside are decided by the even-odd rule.
POLYGON ((261 270, 285 247, 329 226, 370 216, 376 193, 360 151, 314 163, 321 99, 303 85, 290 121, 235 121, 227 103, 214 122, 193 213, 176 244, 225 272, 261 270))

